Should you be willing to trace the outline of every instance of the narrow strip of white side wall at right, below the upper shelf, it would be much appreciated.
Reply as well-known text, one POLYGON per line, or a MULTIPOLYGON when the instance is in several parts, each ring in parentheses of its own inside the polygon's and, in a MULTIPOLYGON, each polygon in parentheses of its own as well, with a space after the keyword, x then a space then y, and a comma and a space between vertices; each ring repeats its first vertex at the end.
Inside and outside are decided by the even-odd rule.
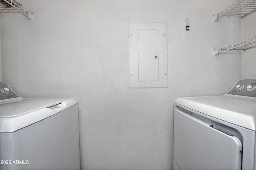
MULTIPOLYGON (((241 19, 241 40, 256 35, 256 13, 253 12, 241 19)), ((256 49, 248 49, 241 52, 242 78, 256 78, 256 49)))

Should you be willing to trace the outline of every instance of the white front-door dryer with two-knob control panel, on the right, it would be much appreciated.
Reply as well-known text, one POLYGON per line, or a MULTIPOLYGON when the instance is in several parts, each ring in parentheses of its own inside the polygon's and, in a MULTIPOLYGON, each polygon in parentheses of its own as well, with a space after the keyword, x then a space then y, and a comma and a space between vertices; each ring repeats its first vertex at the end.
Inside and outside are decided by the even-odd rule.
POLYGON ((255 169, 255 79, 174 101, 174 169, 255 169))

